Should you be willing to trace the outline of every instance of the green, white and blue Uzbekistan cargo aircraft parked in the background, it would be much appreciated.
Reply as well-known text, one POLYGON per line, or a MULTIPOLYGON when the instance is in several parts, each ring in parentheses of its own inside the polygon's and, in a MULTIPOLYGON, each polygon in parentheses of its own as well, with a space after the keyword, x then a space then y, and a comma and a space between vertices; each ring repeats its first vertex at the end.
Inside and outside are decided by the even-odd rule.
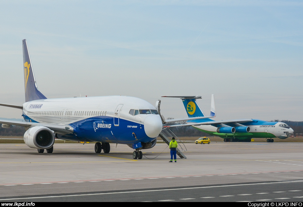
MULTIPOLYGON (((180 98, 184 104, 188 117, 205 117, 196 100, 201 96, 163 96, 180 98)), ((216 116, 215 97, 211 96, 211 116, 216 116)), ((192 126, 210 135, 219 136, 225 142, 250 142, 251 138, 265 138, 267 142, 274 142, 272 138, 286 139, 294 130, 286 123, 268 122, 258 119, 236 119, 214 121, 209 118, 188 120, 185 124, 167 127, 192 126)))

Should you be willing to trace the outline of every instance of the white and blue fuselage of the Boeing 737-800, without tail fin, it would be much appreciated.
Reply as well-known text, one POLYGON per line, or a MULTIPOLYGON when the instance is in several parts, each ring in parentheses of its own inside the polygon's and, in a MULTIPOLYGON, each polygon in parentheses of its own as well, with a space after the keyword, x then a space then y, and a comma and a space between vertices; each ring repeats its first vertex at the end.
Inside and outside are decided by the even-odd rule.
POLYGON ((70 125, 70 141, 132 145, 153 142, 162 130, 161 117, 145 100, 125 96, 32 100, 23 104, 27 122, 70 125), (138 114, 135 114, 138 111, 138 114))

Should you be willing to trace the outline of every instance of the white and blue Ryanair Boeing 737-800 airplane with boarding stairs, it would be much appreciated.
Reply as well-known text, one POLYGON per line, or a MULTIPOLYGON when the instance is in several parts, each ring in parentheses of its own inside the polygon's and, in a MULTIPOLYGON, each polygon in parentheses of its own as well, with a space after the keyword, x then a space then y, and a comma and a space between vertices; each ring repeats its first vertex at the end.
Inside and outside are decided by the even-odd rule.
POLYGON ((161 117, 145 100, 125 96, 46 98, 37 88, 26 40, 23 44, 25 103, 0 104, 22 110, 23 121, 0 120, 2 127, 26 127, 25 144, 38 153, 53 152, 55 137, 62 140, 96 142, 95 152, 110 152, 110 144, 133 148, 134 159, 141 149, 155 146, 162 130, 161 117))

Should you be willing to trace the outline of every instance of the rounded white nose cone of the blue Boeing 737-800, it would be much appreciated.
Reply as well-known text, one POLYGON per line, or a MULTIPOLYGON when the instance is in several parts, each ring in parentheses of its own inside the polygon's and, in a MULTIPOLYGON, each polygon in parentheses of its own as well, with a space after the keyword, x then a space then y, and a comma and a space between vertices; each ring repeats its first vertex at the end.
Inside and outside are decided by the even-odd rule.
POLYGON ((155 138, 162 130, 162 121, 160 116, 150 115, 144 120, 144 131, 147 136, 155 138))

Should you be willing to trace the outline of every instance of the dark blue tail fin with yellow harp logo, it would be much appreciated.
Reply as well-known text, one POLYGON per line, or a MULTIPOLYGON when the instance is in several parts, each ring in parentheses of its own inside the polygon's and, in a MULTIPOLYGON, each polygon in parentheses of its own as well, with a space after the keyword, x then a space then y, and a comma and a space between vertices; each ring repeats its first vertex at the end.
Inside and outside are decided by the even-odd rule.
POLYGON ((23 45, 23 65, 24 65, 24 87, 25 102, 37 99, 46 99, 46 97, 38 90, 35 75, 32 68, 31 58, 29 57, 26 39, 22 40, 23 45))

